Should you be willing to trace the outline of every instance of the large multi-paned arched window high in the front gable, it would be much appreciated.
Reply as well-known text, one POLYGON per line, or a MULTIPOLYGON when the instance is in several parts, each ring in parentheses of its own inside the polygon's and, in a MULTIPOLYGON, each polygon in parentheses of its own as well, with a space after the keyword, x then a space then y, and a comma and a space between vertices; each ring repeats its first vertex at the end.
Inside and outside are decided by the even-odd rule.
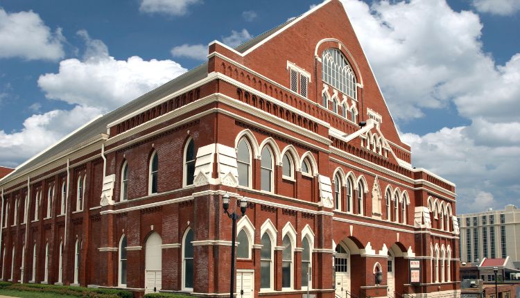
POLYGON ((356 76, 349 62, 338 49, 327 49, 322 55, 322 80, 357 99, 356 76))

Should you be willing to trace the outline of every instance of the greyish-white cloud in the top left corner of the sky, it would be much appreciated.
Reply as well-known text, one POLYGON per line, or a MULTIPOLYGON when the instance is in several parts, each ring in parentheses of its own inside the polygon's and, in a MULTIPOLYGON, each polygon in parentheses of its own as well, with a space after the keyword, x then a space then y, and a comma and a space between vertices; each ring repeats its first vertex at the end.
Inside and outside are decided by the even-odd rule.
POLYGON ((58 60, 63 57, 61 28, 51 32, 33 11, 8 13, 0 8, 0 58, 58 60))

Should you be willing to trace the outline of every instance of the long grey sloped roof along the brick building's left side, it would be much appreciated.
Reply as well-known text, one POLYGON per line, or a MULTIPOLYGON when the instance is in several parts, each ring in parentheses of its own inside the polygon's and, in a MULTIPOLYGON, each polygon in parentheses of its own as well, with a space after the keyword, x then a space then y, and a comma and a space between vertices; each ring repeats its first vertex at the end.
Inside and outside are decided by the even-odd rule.
MULTIPOLYGON (((85 141, 88 141, 89 139, 92 139, 99 134, 105 134, 107 132, 107 125, 109 123, 112 123, 127 114, 135 112, 142 107, 146 107, 146 105, 155 102, 159 98, 167 96, 168 94, 172 94, 173 92, 187 87, 188 85, 191 85, 194 82, 202 80, 206 77, 207 62, 199 65, 198 67, 195 67, 194 69, 191 69, 190 71, 187 71, 187 73, 183 73, 181 76, 178 76, 169 82, 166 82, 166 84, 161 85, 152 91, 139 96, 138 98, 135 98, 129 103, 114 109, 112 112, 95 119, 94 121, 83 126, 83 128, 80 128, 73 134, 70 134, 61 141, 58 141, 58 143, 55 143, 53 146, 40 152, 38 155, 35 155, 35 157, 29 159, 24 164, 21 164, 12 173, 20 173, 21 171, 31 168, 32 166, 40 164, 46 159, 50 159, 51 157, 60 154, 60 152, 63 152, 64 150, 78 146, 80 143, 84 143, 85 141)), ((4 177, 2 180, 8 179, 8 176, 4 177)))

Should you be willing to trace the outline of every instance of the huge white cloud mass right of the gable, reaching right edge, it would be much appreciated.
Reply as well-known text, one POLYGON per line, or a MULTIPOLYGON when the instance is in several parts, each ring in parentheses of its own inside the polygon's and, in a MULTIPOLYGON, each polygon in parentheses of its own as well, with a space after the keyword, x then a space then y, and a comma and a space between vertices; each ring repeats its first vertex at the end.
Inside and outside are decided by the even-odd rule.
POLYGON ((403 134, 413 164, 457 184, 458 212, 519 204, 520 53, 497 65, 478 15, 446 1, 343 4, 398 123, 449 103, 471 122, 403 134))

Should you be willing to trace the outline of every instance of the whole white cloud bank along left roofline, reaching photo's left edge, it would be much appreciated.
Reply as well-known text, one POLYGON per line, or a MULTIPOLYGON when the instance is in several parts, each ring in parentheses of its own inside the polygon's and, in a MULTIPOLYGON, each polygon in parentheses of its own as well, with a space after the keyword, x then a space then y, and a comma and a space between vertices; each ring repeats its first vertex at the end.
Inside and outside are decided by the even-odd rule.
MULTIPOLYGON (((24 121, 21 130, 0 130, 0 164, 17 166, 95 116, 128 103, 186 71, 172 60, 146 61, 137 56, 116 60, 101 40, 93 40, 85 30, 78 31, 78 35, 85 40, 83 60, 63 60, 58 73, 46 73, 38 79, 46 98, 73 107, 33 114, 24 121)), ((37 104, 29 107, 34 111, 40 108, 37 104)))

